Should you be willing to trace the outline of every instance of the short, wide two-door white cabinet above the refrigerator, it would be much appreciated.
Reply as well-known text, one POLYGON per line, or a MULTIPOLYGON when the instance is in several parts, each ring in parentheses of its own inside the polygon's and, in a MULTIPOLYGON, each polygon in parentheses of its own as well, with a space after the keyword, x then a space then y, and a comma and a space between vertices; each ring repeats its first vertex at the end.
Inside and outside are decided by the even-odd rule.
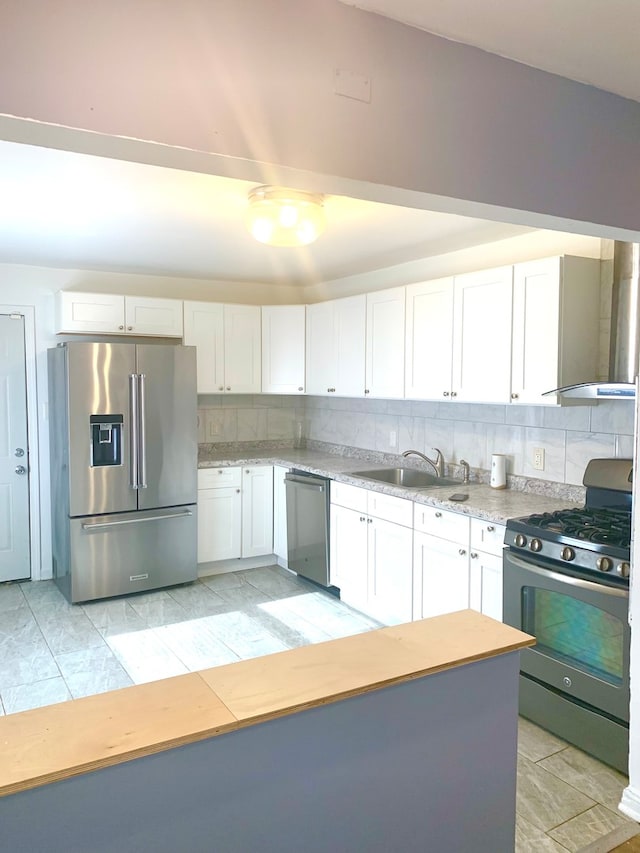
POLYGON ((56 293, 56 333, 182 337, 182 301, 113 293, 56 293))

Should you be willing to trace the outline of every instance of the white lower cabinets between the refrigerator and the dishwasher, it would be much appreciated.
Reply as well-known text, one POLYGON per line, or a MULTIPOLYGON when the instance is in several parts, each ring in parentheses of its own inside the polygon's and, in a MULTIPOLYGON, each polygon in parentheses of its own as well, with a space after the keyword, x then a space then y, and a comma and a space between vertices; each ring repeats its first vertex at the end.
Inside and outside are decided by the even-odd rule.
POLYGON ((198 471, 198 562, 273 553, 273 468, 198 471))

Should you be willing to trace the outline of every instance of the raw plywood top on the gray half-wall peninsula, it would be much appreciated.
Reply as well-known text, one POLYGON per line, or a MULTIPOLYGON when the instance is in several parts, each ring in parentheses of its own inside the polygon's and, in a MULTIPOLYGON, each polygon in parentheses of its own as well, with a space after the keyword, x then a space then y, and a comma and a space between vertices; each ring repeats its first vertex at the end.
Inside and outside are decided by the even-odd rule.
POLYGON ((0 717, 0 796, 533 643, 462 610, 10 714, 0 717))

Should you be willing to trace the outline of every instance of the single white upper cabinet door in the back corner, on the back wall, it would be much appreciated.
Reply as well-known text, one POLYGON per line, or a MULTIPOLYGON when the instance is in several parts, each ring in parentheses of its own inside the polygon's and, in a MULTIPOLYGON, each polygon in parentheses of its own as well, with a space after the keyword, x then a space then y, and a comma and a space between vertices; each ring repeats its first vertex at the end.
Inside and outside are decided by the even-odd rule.
POLYGON ((304 392, 304 305, 262 306, 262 393, 304 392))

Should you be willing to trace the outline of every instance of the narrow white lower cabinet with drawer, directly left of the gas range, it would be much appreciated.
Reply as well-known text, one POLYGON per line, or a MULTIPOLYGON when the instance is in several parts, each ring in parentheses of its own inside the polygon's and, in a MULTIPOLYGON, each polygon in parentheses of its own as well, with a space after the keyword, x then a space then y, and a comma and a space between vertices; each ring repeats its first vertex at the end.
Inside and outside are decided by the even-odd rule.
POLYGON ((502 622, 502 549, 505 526, 471 519, 469 606, 502 622))

